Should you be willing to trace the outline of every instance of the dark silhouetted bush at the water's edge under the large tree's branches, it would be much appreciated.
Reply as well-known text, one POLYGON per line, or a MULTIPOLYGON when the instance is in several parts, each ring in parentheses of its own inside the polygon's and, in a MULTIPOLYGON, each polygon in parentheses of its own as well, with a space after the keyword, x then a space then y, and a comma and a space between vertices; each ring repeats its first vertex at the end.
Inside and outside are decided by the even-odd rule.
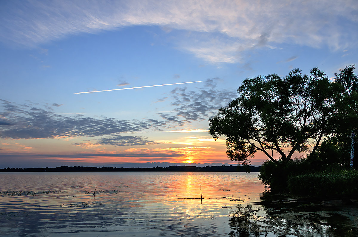
MULTIPOLYGON (((349 157, 347 158, 347 155, 337 148, 341 147, 341 145, 337 144, 338 142, 334 138, 330 138, 322 142, 318 151, 311 154, 309 158, 295 158, 288 162, 279 160, 278 163, 274 163, 271 160, 265 161, 260 168, 258 178, 265 187, 270 187, 272 192, 292 192, 296 194, 304 192, 305 187, 308 189, 313 188, 311 186, 316 185, 317 182, 319 184, 315 187, 324 186, 325 182, 329 182, 329 186, 331 186, 334 184, 334 178, 340 177, 337 181, 339 183, 343 180, 342 174, 345 174, 344 170, 350 168, 350 161, 349 157), (320 175, 325 173, 332 176, 329 176, 330 178, 326 176, 318 178, 320 177, 320 175, 317 175, 318 173, 320 175), (304 178, 295 178, 294 176, 305 177, 308 181, 305 181, 304 178), (289 178, 290 184, 288 183, 289 178), (296 186, 297 190, 301 191, 296 191, 296 186)), ((354 175, 352 176, 352 174, 349 177, 353 177, 354 175)), ((342 182, 347 183, 348 181, 342 182)), ((321 187, 321 190, 328 192, 324 190, 324 187, 321 187)), ((312 192, 310 191, 310 193, 312 192)), ((336 193, 342 192, 337 191, 336 193)))

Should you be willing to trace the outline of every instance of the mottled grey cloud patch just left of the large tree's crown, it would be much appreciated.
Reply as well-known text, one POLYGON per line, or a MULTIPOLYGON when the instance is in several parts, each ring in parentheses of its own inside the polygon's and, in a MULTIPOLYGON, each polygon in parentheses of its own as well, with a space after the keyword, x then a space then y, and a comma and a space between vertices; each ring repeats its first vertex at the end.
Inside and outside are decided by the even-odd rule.
POLYGON ((180 117, 187 122, 207 120, 215 115, 219 108, 226 106, 237 97, 235 90, 218 90, 219 80, 219 78, 207 79, 204 82, 204 89, 199 91, 189 91, 187 87, 176 87, 171 91, 174 99, 171 105, 178 106, 174 109, 175 116, 168 114, 160 116, 175 122, 180 122, 180 117))

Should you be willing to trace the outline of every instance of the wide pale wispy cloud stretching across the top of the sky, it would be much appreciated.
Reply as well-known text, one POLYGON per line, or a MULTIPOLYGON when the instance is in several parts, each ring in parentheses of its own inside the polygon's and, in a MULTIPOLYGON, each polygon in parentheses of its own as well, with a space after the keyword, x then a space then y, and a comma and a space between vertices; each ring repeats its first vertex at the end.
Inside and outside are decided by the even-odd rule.
POLYGON ((233 63, 246 50, 281 43, 354 45, 357 10, 356 0, 9 1, 2 5, 0 41, 37 47, 80 32, 155 25, 196 57, 233 63))

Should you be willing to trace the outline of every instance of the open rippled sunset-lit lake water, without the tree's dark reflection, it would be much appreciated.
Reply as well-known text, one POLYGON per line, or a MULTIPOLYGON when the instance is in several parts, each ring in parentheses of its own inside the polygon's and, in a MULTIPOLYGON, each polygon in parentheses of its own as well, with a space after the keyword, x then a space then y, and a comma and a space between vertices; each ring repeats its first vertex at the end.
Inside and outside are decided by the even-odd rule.
POLYGON ((44 172, 0 176, 0 228, 7 236, 84 236, 98 227, 116 236, 222 236, 229 233, 227 220, 236 205, 258 200, 257 191, 263 190, 254 173, 44 172))

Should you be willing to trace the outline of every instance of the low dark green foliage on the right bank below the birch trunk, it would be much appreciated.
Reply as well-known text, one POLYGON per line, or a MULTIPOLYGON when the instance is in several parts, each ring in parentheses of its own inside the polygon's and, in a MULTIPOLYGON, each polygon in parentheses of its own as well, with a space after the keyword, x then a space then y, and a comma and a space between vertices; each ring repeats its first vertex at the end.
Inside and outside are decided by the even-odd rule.
POLYGON ((296 195, 358 195, 358 171, 309 173, 289 176, 287 187, 296 195))

